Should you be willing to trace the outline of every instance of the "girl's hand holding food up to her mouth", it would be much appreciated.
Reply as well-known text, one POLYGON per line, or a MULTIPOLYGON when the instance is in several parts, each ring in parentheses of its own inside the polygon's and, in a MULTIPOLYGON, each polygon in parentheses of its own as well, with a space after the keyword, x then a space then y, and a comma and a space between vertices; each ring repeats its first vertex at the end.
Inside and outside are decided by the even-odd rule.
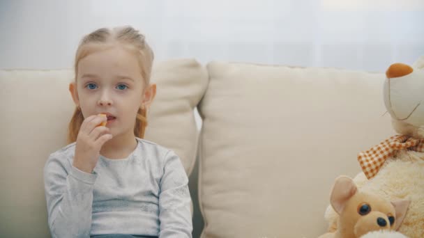
POLYGON ((86 118, 79 129, 73 166, 92 173, 100 156, 100 148, 112 138, 109 128, 98 126, 107 121, 105 116, 93 115, 86 118))

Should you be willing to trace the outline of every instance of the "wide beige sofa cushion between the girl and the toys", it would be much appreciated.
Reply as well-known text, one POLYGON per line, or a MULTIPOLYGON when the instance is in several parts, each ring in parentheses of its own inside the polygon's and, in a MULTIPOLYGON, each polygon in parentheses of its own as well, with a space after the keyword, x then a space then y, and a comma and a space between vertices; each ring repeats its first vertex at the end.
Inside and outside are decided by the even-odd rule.
POLYGON ((199 104, 202 237, 317 237, 338 175, 395 132, 384 74, 212 62, 199 104))

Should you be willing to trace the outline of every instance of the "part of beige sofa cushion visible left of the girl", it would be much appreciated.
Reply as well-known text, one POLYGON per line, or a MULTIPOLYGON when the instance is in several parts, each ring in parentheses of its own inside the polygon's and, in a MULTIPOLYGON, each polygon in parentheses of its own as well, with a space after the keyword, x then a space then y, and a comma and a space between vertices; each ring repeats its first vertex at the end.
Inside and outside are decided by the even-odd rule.
POLYGON ((43 167, 66 145, 70 70, 1 70, 0 233, 49 237, 43 167))

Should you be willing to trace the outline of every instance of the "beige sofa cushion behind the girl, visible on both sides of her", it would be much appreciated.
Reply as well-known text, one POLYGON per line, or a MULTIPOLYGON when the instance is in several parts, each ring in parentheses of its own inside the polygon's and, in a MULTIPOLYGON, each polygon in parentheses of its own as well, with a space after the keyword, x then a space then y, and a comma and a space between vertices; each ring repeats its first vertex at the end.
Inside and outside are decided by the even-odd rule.
MULTIPOLYGON (((72 79, 72 70, 0 70, 2 237, 49 236, 43 167, 51 152, 66 145, 72 79)), ((152 81, 158 95, 146 139, 179 154, 189 174, 197 150, 192 110, 206 90, 206 69, 190 59, 160 62, 152 81)))

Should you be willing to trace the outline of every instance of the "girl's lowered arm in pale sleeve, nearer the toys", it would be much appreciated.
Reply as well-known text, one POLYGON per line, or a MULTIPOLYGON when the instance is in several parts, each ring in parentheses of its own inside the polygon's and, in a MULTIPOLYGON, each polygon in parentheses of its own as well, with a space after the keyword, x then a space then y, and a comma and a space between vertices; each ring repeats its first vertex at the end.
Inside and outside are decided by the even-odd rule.
POLYGON ((179 157, 172 151, 165 155, 164 174, 160 180, 159 237, 192 237, 191 198, 188 177, 179 157))

